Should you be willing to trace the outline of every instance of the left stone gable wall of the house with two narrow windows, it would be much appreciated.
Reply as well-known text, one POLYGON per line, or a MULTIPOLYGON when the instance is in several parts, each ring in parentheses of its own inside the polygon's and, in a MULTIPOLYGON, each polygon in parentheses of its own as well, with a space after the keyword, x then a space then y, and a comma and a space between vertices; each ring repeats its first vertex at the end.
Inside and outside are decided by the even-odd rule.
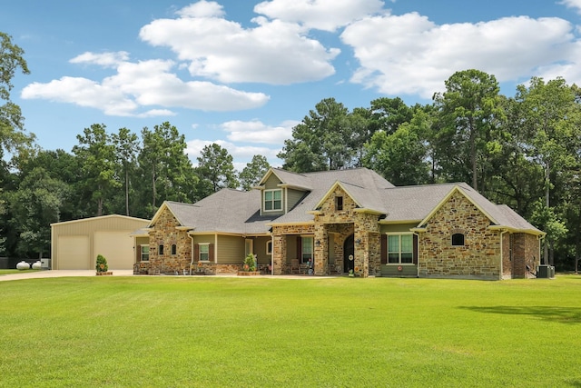
POLYGON ((177 220, 167 208, 162 211, 153 230, 149 233, 149 268, 160 274, 174 274, 176 271, 190 270, 192 261, 192 239, 187 232, 179 231, 177 220), (176 245, 176 254, 172 254, 172 244, 176 245), (159 245, 163 245, 163 254, 159 254, 159 245))

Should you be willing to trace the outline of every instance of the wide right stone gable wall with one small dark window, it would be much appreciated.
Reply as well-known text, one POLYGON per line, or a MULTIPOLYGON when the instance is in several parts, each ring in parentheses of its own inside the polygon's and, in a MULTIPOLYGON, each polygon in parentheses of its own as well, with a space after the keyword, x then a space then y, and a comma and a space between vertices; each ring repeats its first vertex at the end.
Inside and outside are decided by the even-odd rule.
POLYGON ((499 280, 500 232, 489 225, 468 198, 452 194, 419 235, 419 276, 499 280), (463 246, 451 244, 454 233, 464 234, 463 246))

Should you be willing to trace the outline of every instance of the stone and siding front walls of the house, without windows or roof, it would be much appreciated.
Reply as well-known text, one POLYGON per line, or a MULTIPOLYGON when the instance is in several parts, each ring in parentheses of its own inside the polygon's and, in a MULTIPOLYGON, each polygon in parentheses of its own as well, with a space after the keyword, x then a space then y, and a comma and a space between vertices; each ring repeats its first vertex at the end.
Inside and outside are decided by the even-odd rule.
MULTIPOLYGON (((273 187, 278 187, 278 183, 273 187)), ((257 257, 261 272, 270 274, 272 270, 275 275, 288 274, 291 259, 300 259, 298 239, 304 236, 313 239, 315 275, 343 274, 349 267, 359 277, 379 275, 383 271, 383 275, 389 276, 499 280, 528 277, 527 266, 535 269, 538 265, 536 234, 515 233, 497 225, 491 227, 487 214, 460 189, 448 194, 445 202, 419 227, 415 224, 418 221, 413 220, 401 224, 381 222, 381 214, 361 209, 346 190, 349 186, 335 184, 318 208, 310 211, 313 214, 311 222, 276 224, 274 221, 271 236, 266 232, 250 236, 218 232, 196 234, 192 241, 169 208, 162 208, 149 232, 149 261, 136 263, 134 273, 236 274, 241 270, 244 251, 252 249, 257 254, 256 247, 260 245, 257 257), (382 252, 388 251, 386 234, 412 232, 414 242, 417 238, 414 262, 406 262, 403 266, 393 262, 386 264, 387 252, 382 252), (459 242, 455 239, 453 243, 453 235, 461 237, 459 242), (248 245, 249 241, 252 245, 248 245), (272 242, 271 254, 266 248, 269 241, 272 242), (192 254, 200 244, 210 244, 212 257, 200 264, 194 257, 190 268, 192 254), (346 261, 345 257, 351 253, 353 262, 346 261)), ((268 246, 270 250, 270 244, 268 246)), ((302 265, 303 272, 305 266, 302 265)))

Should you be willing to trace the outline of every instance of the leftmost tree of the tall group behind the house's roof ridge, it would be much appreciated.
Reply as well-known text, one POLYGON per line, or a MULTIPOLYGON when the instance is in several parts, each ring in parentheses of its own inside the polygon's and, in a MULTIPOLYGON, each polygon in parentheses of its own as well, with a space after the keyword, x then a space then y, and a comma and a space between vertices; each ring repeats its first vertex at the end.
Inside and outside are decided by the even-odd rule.
POLYGON ((284 160, 284 168, 297 173, 349 167, 355 152, 345 144, 351 137, 349 110, 327 98, 292 128, 292 139, 284 141, 278 157, 284 160))

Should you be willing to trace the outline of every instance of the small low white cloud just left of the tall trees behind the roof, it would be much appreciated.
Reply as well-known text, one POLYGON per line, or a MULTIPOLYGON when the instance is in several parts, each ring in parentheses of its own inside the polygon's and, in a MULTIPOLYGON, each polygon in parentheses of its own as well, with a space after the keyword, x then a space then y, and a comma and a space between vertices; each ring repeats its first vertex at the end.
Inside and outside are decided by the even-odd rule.
POLYGON ((228 132, 231 142, 247 142, 261 144, 283 144, 292 137, 292 127, 299 124, 296 121, 287 121, 279 126, 263 124, 259 120, 229 121, 222 123, 222 129, 228 132))

